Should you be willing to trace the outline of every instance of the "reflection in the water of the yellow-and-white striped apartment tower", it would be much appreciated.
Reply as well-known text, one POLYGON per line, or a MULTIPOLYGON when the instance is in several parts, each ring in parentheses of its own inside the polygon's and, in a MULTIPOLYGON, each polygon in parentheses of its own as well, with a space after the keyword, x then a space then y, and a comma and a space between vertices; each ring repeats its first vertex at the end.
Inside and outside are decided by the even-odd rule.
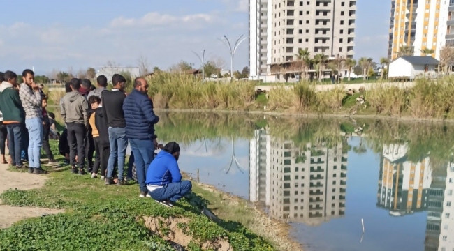
POLYGON ((427 195, 432 182, 430 159, 407 160, 407 145, 383 146, 377 206, 392 215, 404 215, 427 209, 427 195))

